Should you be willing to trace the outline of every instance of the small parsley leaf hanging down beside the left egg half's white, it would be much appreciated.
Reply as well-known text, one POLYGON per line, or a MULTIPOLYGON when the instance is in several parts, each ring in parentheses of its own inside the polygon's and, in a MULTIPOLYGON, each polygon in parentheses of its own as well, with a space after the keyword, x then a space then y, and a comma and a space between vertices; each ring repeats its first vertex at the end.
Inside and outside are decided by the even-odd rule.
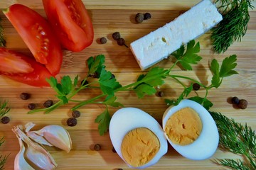
POLYGON ((100 132, 100 135, 104 135, 105 132, 107 132, 109 126, 110 126, 110 113, 106 110, 102 112, 100 115, 97 116, 95 119, 95 123, 99 123, 98 130, 100 132))

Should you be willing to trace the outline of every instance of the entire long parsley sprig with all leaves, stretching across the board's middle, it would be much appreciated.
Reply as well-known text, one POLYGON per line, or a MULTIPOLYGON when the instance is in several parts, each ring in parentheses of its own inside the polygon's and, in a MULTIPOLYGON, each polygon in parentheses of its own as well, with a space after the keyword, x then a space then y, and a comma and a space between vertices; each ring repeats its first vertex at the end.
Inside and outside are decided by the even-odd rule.
POLYGON ((172 55, 176 58, 176 62, 169 68, 164 69, 161 67, 153 67, 149 69, 146 74, 141 74, 132 84, 127 84, 126 86, 122 86, 122 84, 117 81, 116 78, 112 77, 112 72, 107 71, 105 66, 105 56, 97 55, 96 57, 90 57, 87 60, 88 71, 85 79, 83 79, 82 83, 78 85, 78 76, 71 80, 69 76, 64 76, 60 82, 57 81, 54 77, 50 77, 47 79, 50 86, 56 91, 56 97, 59 99, 57 103, 49 108, 41 108, 33 111, 29 111, 28 113, 35 113, 38 111, 43 111, 45 113, 50 113, 54 111, 56 108, 65 105, 66 103, 73 102, 77 103, 76 106, 71 108, 72 111, 77 110, 78 108, 85 106, 87 104, 103 104, 105 105, 105 111, 100 113, 95 119, 95 123, 98 124, 98 129, 100 135, 103 135, 107 132, 107 129, 110 125, 110 112, 109 107, 122 107, 122 103, 117 101, 116 94, 119 91, 133 91, 137 94, 138 98, 144 98, 146 95, 156 94, 156 87, 164 84, 164 79, 171 78, 175 81, 178 81, 181 86, 183 86, 183 93, 178 97, 177 100, 169 100, 166 99, 166 103, 177 105, 183 98, 186 98, 188 94, 191 94, 193 91, 192 83, 196 82, 200 84, 203 88, 206 89, 206 96, 203 98, 200 96, 195 96, 190 98, 193 101, 197 101, 198 103, 203 104, 206 108, 210 108, 213 106, 213 103, 208 101, 207 94, 208 90, 215 87, 218 88, 223 81, 224 77, 231 76, 232 74, 237 74, 233 69, 236 64, 235 55, 227 57, 223 60, 221 66, 218 64, 217 60, 213 60, 213 64, 211 64, 210 70, 213 72, 213 80, 210 86, 205 86, 201 84, 201 82, 196 81, 195 79, 191 79, 190 77, 183 77, 181 75, 171 74, 171 70, 177 65, 180 64, 181 67, 185 70, 192 70, 192 64, 198 64, 201 61, 202 57, 198 55, 200 52, 200 44, 199 42, 195 42, 192 40, 188 42, 188 45, 181 46, 176 52, 172 55), (96 78, 92 78, 96 77, 96 78), (191 81, 190 86, 186 86, 180 79, 186 79, 191 81), (83 89, 98 89, 101 91, 101 94, 98 96, 94 96, 90 99, 79 101, 73 100, 73 96, 78 94, 79 91, 83 89))

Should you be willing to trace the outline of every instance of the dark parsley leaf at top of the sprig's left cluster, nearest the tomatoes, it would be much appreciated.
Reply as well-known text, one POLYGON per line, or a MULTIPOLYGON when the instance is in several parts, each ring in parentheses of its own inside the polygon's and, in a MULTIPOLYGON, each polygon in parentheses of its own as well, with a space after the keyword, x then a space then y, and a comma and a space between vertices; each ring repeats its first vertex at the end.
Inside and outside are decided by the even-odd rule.
POLYGON ((87 59, 87 65, 89 68, 88 76, 90 74, 97 74, 100 75, 102 70, 105 69, 105 56, 104 55, 97 55, 96 57, 89 57, 87 59))

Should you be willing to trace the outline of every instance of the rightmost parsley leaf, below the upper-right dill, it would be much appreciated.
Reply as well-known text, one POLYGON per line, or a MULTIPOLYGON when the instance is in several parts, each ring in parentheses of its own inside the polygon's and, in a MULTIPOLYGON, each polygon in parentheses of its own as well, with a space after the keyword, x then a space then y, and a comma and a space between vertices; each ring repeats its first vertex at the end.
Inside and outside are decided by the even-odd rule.
POLYGON ((222 83, 223 77, 230 77, 233 74, 238 74, 238 72, 233 70, 237 66, 237 63, 235 63, 237 60, 236 57, 236 55, 226 57, 221 66, 218 64, 217 60, 213 59, 210 63, 210 71, 213 73, 213 78, 211 80, 213 87, 217 89, 222 83))

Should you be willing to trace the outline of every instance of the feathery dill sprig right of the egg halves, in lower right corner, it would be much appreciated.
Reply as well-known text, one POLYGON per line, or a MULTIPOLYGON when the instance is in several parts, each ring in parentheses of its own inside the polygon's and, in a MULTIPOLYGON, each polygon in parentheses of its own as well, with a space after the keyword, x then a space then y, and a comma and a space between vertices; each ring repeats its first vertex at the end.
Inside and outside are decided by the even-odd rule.
POLYGON ((225 151, 239 154, 243 159, 218 159, 223 166, 230 169, 256 169, 256 135, 255 131, 221 113, 210 112, 220 133, 219 147, 225 151))

